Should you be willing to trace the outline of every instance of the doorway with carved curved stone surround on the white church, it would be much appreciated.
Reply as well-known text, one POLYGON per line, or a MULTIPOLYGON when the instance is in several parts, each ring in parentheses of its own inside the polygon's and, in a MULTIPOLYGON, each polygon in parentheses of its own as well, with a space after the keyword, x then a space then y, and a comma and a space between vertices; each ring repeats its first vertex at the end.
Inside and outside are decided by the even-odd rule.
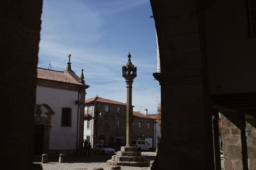
POLYGON ((36 104, 35 106, 35 152, 49 151, 51 116, 54 114, 51 107, 47 104, 36 104), (36 140, 43 141, 36 141, 36 140), (40 143, 42 142, 42 143, 40 143), (37 148, 36 148, 37 147, 37 148), (42 147, 42 148, 40 148, 42 147))

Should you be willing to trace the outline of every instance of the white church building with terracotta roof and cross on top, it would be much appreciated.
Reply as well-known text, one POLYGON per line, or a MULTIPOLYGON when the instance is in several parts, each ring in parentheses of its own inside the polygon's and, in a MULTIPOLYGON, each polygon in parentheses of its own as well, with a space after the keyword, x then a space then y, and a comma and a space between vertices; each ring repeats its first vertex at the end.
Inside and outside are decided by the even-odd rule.
POLYGON ((67 70, 37 69, 35 154, 83 151, 84 98, 88 85, 67 70))

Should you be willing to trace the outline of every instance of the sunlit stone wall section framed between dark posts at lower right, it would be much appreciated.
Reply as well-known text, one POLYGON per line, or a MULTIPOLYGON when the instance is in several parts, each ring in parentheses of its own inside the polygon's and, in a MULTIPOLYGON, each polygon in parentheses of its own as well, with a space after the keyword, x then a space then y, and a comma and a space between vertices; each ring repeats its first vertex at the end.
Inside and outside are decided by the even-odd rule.
POLYGON ((225 169, 248 168, 244 114, 222 113, 221 122, 225 169))

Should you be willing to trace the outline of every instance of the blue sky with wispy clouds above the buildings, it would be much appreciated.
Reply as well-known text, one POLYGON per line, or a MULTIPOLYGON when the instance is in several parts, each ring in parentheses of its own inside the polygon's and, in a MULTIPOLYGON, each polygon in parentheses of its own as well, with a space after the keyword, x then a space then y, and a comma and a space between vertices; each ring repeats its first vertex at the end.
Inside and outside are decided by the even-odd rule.
POLYGON ((86 99, 103 97, 126 103, 122 66, 131 50, 138 76, 132 88, 134 111, 156 113, 160 86, 156 34, 149 0, 44 0, 38 67, 63 71, 68 54, 72 70, 84 69, 86 99))

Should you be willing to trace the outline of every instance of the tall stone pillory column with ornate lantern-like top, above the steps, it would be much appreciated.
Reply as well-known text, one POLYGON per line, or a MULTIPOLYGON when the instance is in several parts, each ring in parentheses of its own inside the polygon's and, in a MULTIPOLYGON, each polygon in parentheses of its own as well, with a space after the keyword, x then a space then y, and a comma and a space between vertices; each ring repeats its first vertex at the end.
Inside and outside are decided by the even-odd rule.
POLYGON ((132 131, 132 82, 137 76, 137 67, 131 62, 131 53, 128 54, 128 62, 122 67, 123 77, 127 85, 127 103, 126 103, 126 145, 131 146, 132 131))

